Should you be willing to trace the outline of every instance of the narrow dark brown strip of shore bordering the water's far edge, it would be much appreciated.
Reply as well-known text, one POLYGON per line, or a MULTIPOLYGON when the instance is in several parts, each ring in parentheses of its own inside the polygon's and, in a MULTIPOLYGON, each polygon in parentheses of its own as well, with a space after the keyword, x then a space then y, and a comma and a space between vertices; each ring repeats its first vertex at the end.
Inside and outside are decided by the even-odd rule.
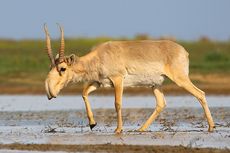
MULTIPOLYGON (((230 95, 230 86, 215 86, 215 85, 199 85, 201 90, 203 90, 206 95, 230 95)), ((83 88, 81 87, 66 87, 60 94, 64 95, 76 95, 81 94, 83 88)), ((165 95, 186 95, 189 94, 185 89, 180 88, 174 84, 162 86, 162 90, 165 95)), ((9 95, 41 95, 46 94, 45 89, 41 87, 1 87, 0 94, 9 95)), ((152 95, 151 88, 126 88, 124 89, 124 94, 126 95, 152 95)), ((101 88, 92 93, 92 95, 113 95, 113 88, 101 88)))

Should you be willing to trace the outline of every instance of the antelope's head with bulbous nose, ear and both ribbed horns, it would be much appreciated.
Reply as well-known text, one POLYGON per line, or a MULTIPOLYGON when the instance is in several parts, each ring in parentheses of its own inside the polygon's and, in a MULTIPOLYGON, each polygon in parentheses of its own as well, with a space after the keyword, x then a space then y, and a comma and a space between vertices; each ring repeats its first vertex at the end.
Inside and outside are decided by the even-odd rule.
POLYGON ((61 44, 59 53, 54 59, 48 28, 46 24, 44 25, 44 31, 46 34, 46 51, 51 62, 50 71, 45 81, 45 89, 49 100, 56 98, 60 90, 72 80, 74 75, 73 64, 76 60, 74 54, 64 56, 64 31, 60 25, 58 26, 61 31, 61 44))

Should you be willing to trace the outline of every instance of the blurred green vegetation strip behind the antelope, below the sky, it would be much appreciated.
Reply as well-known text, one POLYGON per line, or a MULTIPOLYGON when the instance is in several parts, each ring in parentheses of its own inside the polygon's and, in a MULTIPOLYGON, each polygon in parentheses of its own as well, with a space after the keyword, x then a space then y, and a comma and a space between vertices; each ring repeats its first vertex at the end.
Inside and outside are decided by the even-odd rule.
MULTIPOLYGON (((107 37, 66 39, 65 54, 74 53, 82 56, 94 46, 110 40, 128 39, 107 37)), ((189 52, 190 73, 230 74, 230 42, 200 40, 178 43, 189 52)), ((59 45, 59 40, 52 41, 54 52, 58 51, 59 45)), ((0 86, 43 86, 49 65, 44 40, 0 39, 0 86)))

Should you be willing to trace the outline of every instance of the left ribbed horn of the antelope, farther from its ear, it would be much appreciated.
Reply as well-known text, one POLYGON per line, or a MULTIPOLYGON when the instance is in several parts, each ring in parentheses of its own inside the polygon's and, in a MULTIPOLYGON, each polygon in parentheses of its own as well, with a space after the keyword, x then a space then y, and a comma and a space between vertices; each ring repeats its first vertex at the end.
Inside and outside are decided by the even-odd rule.
POLYGON ((46 33, 46 51, 47 51, 47 54, 48 54, 49 59, 51 61, 51 65, 52 65, 52 67, 54 67, 55 61, 54 61, 54 57, 53 57, 53 53, 52 53, 52 49, 51 49, 50 35, 49 35, 48 28, 47 28, 46 24, 44 24, 44 31, 46 33))

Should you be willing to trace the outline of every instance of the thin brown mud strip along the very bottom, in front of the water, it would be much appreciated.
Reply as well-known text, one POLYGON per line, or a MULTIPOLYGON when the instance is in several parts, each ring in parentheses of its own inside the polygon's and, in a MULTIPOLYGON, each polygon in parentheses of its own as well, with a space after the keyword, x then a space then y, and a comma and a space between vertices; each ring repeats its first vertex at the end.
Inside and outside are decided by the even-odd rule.
MULTIPOLYGON (((213 148, 188 148, 183 146, 145 146, 145 145, 0 145, 4 149, 18 150, 36 150, 36 151, 64 151, 64 152, 101 152, 101 153, 229 153, 228 149, 213 148)), ((7 153, 8 150, 4 150, 7 153)), ((0 150, 1 152, 1 150, 0 150)), ((1 152, 3 153, 3 152, 1 152)), ((37 152, 36 152, 37 153, 37 152)), ((38 152, 40 153, 40 152, 38 152)), ((47 152, 49 153, 49 152, 47 152)), ((59 152, 62 153, 62 152, 59 152)))

